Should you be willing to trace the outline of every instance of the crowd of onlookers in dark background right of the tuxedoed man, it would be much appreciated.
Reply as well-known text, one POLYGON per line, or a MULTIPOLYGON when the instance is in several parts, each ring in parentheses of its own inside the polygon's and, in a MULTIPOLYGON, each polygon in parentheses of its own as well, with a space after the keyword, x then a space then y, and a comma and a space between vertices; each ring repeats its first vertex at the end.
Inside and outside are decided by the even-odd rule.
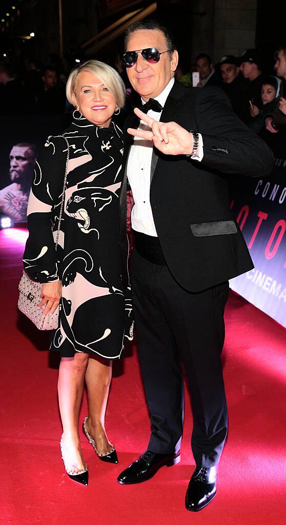
MULTIPOLYGON (((197 87, 215 85, 225 91, 232 109, 250 129, 277 133, 277 126, 286 124, 286 47, 277 50, 272 75, 269 69, 266 73, 259 49, 247 49, 241 57, 224 56, 216 65, 208 55, 200 54, 193 71, 199 72, 197 87)), ((179 73, 177 79, 192 86, 191 72, 179 73)))

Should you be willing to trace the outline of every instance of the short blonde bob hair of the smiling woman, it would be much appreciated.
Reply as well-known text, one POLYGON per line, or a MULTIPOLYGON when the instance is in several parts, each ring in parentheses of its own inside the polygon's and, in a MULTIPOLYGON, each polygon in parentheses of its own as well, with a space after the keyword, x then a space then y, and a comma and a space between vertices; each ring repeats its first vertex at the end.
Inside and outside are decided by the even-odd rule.
POLYGON ((117 106, 121 109, 125 103, 126 89, 121 76, 113 67, 100 62, 99 60, 88 60, 77 68, 73 69, 69 75, 66 85, 66 95, 68 101, 73 105, 72 93, 76 95, 78 76, 81 71, 89 71, 106 86, 115 97, 117 106))

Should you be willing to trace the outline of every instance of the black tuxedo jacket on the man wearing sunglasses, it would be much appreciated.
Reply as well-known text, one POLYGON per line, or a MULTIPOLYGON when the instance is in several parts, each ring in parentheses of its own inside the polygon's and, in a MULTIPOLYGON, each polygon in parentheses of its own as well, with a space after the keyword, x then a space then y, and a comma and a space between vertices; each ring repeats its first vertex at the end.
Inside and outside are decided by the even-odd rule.
MULTIPOLYGON (((202 162, 185 155, 164 155, 153 147, 150 201, 168 269, 188 291, 199 292, 253 268, 245 240, 229 208, 231 175, 263 176, 273 168, 273 154, 232 111, 217 87, 186 88, 175 81, 161 115, 186 130, 202 134, 202 162)), ((120 193, 122 261, 126 235, 126 164, 137 128, 131 115, 124 127, 124 177, 120 193)), ((125 286, 128 268, 123 268, 125 286)))

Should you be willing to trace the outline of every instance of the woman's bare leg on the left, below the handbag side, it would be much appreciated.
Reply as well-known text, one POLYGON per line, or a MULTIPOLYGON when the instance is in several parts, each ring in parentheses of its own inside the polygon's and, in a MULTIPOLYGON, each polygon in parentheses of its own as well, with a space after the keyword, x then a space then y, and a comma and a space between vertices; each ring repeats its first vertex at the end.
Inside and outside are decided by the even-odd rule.
POLYGON ((65 452, 66 466, 74 473, 86 468, 81 453, 78 426, 88 359, 88 354, 76 352, 73 360, 61 359, 59 367, 58 395, 63 428, 62 449, 65 452))

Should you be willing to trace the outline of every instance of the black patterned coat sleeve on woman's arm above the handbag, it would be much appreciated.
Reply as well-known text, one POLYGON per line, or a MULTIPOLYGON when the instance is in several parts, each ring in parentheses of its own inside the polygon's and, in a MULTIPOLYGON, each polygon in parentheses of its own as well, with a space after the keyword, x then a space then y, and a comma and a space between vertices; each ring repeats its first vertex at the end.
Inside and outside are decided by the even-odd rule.
POLYGON ((52 218, 55 216, 57 229, 66 160, 66 141, 62 137, 49 137, 35 164, 27 209, 29 236, 23 262, 30 278, 38 282, 60 279, 52 218))

